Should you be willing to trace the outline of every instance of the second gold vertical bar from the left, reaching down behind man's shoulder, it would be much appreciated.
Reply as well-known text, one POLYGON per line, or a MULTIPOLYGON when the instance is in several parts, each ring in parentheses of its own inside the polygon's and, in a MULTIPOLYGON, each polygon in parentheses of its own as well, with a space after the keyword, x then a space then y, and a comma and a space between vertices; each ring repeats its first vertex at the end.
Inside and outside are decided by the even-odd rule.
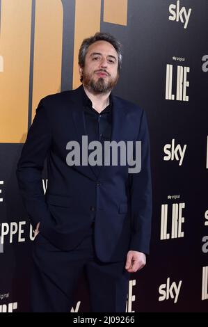
POLYGON ((33 116, 42 97, 61 90, 63 6, 61 0, 35 1, 33 116))

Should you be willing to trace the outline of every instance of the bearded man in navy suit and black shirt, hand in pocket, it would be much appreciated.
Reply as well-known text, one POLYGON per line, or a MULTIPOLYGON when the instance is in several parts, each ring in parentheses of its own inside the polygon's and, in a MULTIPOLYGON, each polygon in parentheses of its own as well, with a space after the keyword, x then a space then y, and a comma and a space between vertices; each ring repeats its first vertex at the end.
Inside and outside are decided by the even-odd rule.
MULTIPOLYGON (((83 40, 82 86, 41 99, 29 129, 17 179, 35 228, 33 312, 70 311, 81 271, 86 272, 92 312, 125 312, 129 273, 145 265, 152 210, 150 146, 144 111, 111 95, 121 61, 120 42, 112 35, 96 33, 83 40), (141 141, 136 158, 141 171, 129 173, 129 161, 89 164, 86 143, 79 162, 72 164, 76 153, 69 151, 70 142, 81 148, 82 136, 100 145, 141 141)), ((103 149, 99 154, 105 156, 103 149)), ((133 149, 135 156, 136 145, 133 149)))

